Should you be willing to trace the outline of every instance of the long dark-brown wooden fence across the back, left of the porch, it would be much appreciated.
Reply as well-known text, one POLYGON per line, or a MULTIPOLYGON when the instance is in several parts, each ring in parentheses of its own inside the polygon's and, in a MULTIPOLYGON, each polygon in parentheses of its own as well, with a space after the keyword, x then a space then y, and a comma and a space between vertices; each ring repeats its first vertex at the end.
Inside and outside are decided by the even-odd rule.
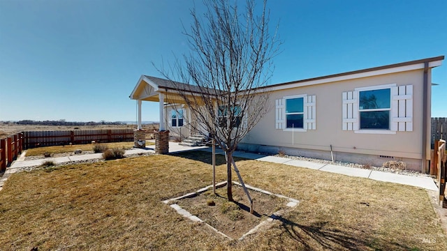
POLYGON ((133 129, 27 131, 24 134, 24 149, 39 146, 62 146, 95 142, 133 141, 133 129))

